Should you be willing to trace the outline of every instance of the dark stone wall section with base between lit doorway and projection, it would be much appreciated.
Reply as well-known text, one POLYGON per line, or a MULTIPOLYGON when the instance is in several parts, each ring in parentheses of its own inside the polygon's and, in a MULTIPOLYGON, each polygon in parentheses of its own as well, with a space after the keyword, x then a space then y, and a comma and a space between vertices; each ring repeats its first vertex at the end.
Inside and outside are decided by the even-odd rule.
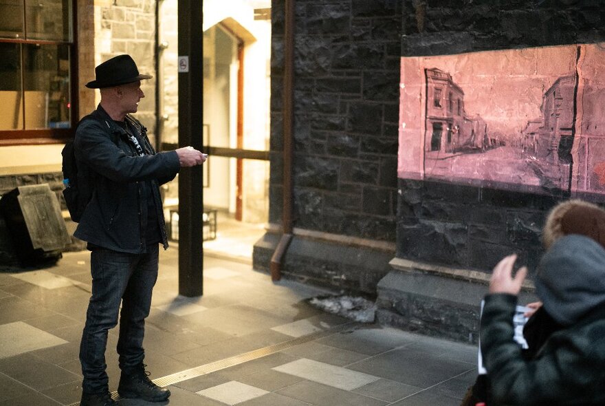
MULTIPOLYGON (((402 3, 295 2, 295 236, 286 275, 373 295, 388 272, 395 253, 402 3)), ((281 224, 283 0, 272 2, 272 26, 270 222, 281 224)), ((256 268, 268 267, 276 238, 267 233, 256 245, 256 268)))

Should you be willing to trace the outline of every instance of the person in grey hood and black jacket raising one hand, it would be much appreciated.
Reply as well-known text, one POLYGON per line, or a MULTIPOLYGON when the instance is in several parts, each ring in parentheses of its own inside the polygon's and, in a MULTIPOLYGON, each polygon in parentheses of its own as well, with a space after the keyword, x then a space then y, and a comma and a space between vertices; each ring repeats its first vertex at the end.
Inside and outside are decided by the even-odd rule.
MULTIPOLYGON (((536 294, 562 328, 524 359, 513 315, 527 268, 494 268, 481 318, 481 352, 494 405, 605 405, 605 249, 580 234, 556 239, 538 265, 536 294)), ((489 405, 492 406, 492 405, 489 405)))

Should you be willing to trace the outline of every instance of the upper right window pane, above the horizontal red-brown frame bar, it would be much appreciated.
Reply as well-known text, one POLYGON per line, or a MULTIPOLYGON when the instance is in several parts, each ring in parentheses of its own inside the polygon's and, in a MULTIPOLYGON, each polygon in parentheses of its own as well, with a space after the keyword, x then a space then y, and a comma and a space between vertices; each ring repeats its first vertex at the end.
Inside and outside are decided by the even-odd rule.
POLYGON ((70 41, 71 13, 70 0, 25 0, 27 38, 70 41))

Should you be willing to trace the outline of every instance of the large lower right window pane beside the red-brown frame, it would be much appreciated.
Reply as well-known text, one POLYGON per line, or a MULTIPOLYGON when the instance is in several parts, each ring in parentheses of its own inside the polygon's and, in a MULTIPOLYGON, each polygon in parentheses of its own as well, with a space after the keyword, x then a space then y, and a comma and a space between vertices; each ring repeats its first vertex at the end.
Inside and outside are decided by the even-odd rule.
POLYGON ((25 129, 69 128, 69 46, 23 45, 25 129))

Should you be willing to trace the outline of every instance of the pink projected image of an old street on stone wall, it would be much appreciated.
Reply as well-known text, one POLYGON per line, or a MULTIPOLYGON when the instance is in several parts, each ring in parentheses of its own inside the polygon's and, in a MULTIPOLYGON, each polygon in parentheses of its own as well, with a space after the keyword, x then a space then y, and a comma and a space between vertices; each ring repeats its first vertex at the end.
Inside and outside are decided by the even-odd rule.
POLYGON ((605 44, 401 58, 399 178, 605 193, 605 44))

